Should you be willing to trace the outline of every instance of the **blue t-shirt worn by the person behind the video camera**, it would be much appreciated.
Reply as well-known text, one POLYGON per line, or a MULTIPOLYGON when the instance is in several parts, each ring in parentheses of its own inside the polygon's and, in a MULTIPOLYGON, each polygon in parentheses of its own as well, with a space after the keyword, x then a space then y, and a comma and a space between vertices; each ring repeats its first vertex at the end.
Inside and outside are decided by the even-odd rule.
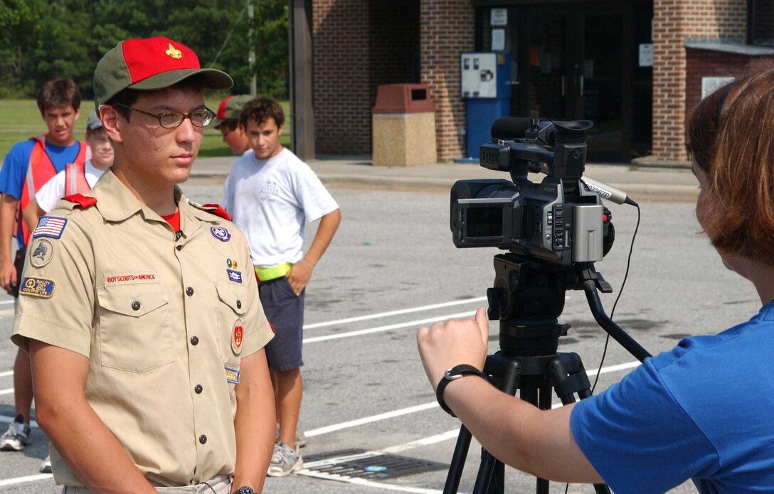
POLYGON ((686 338, 575 405, 575 441, 616 494, 774 492, 774 303, 686 338))

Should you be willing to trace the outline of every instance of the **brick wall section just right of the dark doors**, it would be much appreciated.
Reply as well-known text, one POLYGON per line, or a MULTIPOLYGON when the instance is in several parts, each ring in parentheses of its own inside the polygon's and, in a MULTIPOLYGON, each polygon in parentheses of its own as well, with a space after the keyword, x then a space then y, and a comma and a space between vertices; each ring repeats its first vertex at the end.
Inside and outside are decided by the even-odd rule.
POLYGON ((746 0, 653 0, 653 156, 686 161, 685 40, 745 39, 746 0))

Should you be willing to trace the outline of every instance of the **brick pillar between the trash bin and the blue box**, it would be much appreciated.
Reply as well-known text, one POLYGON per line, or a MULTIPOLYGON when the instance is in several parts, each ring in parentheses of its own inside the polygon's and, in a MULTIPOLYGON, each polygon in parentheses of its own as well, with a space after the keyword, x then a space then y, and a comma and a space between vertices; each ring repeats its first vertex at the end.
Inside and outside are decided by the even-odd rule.
POLYGON ((460 56, 474 49, 475 15, 470 0, 422 0, 422 83, 436 105, 438 160, 465 156, 465 103, 460 97, 460 56))

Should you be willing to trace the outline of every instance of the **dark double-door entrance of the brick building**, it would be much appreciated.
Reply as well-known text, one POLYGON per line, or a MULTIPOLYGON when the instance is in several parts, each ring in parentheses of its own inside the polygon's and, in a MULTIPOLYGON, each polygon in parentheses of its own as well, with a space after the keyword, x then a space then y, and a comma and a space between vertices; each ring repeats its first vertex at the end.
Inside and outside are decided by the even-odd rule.
MULTIPOLYGON (((631 160, 637 153, 632 140, 634 10, 632 3, 618 1, 512 7, 512 56, 519 66, 512 114, 592 120, 588 159, 631 160)), ((649 101, 647 106, 649 112, 649 101)))

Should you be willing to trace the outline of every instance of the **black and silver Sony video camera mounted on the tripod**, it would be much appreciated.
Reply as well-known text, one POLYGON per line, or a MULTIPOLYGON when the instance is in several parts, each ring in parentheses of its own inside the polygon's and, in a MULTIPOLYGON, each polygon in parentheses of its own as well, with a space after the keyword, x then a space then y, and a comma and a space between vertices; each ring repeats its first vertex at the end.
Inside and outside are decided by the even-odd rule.
POLYGON ((588 120, 498 118, 491 126, 491 143, 481 146, 481 166, 509 172, 511 181, 454 184, 454 245, 499 247, 560 266, 601 261, 615 237, 601 198, 628 199, 625 192, 583 178, 586 132, 593 125, 588 120), (547 176, 534 183, 529 172, 547 176))

